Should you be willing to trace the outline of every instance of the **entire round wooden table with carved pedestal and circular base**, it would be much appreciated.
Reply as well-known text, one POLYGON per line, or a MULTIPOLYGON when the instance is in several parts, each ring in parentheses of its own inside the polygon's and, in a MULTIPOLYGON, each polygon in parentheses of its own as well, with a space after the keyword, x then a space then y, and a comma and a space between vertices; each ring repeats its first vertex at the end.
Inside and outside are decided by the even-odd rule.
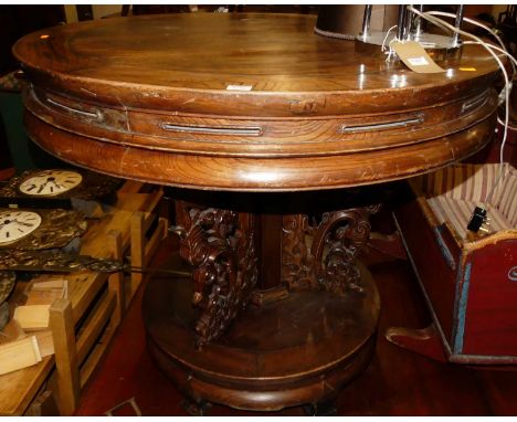
POLYGON ((144 315, 158 366, 197 403, 318 404, 358 374, 380 305, 357 255, 379 199, 344 188, 447 166, 494 131, 497 65, 482 48, 419 74, 314 25, 117 18, 13 48, 38 145, 177 188, 172 231, 192 277, 151 282, 144 315))

